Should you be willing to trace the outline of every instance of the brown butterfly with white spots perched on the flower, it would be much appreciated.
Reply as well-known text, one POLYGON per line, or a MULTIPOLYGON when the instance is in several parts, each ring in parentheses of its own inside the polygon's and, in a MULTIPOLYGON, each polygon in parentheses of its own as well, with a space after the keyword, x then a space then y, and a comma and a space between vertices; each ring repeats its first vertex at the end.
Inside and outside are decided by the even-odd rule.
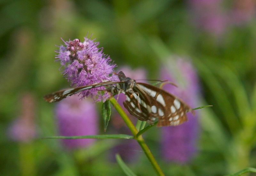
POLYGON ((112 95, 124 93, 123 102, 128 112, 141 121, 149 124, 158 118, 158 127, 176 126, 187 121, 187 112, 192 109, 176 96, 150 84, 137 83, 118 72, 120 82, 108 81, 54 92, 44 96, 48 102, 60 101, 75 93, 101 86, 109 86, 106 90, 112 95))

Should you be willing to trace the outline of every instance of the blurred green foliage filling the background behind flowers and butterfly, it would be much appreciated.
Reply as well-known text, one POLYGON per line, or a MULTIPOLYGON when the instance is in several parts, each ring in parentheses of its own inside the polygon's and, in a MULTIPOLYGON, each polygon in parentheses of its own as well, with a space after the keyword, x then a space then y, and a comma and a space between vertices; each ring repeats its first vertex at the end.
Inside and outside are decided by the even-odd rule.
MULTIPOLYGON (((19 116, 24 92, 36 97, 38 137, 58 135, 55 106, 42 98, 69 86, 59 73, 59 63, 53 61, 55 44, 62 44, 60 37, 83 40, 88 31, 118 66, 144 67, 150 79, 159 77, 161 61, 169 55, 194 63, 203 93, 198 106, 214 107, 200 110, 198 153, 188 164, 165 162, 157 147, 159 129, 147 132, 146 142, 166 175, 224 175, 256 167, 255 18, 225 23, 221 33, 214 33, 197 24, 191 2, 1 1, 1 174, 123 175, 107 156, 123 140, 98 140, 71 152, 62 149, 60 140, 22 143, 7 135, 10 123, 19 116)), ((226 13, 233 6, 233 1, 221 3, 226 13)), ((139 159, 129 167, 138 175, 154 175, 147 158, 137 153, 139 159)))

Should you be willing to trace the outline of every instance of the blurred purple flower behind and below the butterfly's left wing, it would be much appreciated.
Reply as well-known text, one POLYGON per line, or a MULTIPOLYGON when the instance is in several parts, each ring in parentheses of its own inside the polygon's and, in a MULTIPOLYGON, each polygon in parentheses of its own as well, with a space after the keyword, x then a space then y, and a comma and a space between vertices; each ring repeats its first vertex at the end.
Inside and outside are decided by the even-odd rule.
MULTIPOLYGON (((97 135, 98 115, 96 106, 89 100, 79 100, 76 95, 67 97, 58 103, 56 117, 61 136, 97 135)), ((84 148, 92 144, 95 139, 63 140, 69 148, 84 148)))

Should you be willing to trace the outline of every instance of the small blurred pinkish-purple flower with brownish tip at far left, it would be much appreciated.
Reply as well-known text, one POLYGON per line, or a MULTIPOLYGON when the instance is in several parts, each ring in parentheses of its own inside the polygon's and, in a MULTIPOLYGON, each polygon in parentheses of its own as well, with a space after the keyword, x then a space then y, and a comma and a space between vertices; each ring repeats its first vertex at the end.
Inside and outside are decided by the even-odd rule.
POLYGON ((21 115, 9 127, 8 135, 14 141, 28 143, 36 137, 35 100, 32 94, 23 95, 21 115))

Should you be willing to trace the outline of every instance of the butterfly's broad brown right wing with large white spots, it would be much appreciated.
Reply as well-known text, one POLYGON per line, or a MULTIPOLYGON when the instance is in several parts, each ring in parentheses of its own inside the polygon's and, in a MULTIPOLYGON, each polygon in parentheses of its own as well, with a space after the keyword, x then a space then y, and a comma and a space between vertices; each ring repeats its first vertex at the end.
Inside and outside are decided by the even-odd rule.
POLYGON ((182 100, 158 87, 137 83, 133 90, 135 94, 142 97, 141 100, 145 102, 147 108, 142 108, 142 112, 139 113, 138 104, 143 105, 143 101, 140 103, 136 97, 130 98, 130 101, 126 99, 124 102, 125 108, 130 114, 143 121, 152 123, 155 118, 158 118, 158 127, 182 124, 187 121, 186 113, 192 111, 182 100), (131 102, 135 105, 134 107, 131 102))

